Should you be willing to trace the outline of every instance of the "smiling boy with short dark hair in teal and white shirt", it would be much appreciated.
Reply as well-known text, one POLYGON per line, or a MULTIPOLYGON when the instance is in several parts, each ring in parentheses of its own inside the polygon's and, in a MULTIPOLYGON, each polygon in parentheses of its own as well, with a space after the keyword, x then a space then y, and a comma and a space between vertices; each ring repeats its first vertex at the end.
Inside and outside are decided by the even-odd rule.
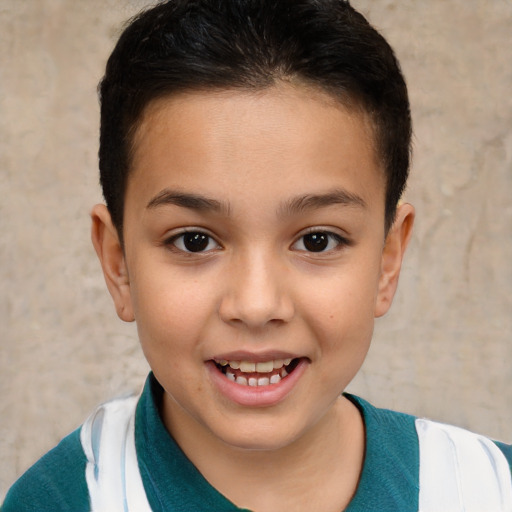
POLYGON ((173 0, 101 83, 92 239, 152 373, 10 510, 512 510, 510 447, 341 393, 414 218, 385 40, 339 0, 173 0))

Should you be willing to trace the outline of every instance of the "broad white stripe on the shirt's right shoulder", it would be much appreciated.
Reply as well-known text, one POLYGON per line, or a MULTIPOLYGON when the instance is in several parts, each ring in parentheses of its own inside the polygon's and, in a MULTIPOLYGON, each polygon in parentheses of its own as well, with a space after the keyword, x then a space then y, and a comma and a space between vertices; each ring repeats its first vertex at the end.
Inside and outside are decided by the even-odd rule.
POLYGON ((419 512, 512 512, 507 459, 489 439, 417 419, 419 512))

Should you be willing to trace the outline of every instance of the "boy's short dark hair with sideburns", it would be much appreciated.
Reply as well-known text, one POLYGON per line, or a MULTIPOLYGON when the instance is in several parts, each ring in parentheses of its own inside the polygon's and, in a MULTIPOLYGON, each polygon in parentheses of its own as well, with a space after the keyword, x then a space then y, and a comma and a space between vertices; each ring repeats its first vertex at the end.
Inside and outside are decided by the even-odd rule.
POLYGON ((343 0, 169 0, 128 24, 100 86, 100 182, 120 237, 134 133, 153 100, 264 89, 294 77, 370 115, 386 175, 386 230, 407 181, 411 117, 386 40, 343 0))

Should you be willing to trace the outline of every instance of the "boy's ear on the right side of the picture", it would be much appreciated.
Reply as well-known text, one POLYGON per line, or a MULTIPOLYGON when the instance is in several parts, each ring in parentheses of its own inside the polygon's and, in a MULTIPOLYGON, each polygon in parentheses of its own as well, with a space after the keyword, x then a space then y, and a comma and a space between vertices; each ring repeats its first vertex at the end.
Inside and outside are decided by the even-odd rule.
POLYGON ((408 203, 400 204, 382 251, 375 317, 385 315, 393 302, 402 259, 411 238, 413 224, 414 207, 408 203))

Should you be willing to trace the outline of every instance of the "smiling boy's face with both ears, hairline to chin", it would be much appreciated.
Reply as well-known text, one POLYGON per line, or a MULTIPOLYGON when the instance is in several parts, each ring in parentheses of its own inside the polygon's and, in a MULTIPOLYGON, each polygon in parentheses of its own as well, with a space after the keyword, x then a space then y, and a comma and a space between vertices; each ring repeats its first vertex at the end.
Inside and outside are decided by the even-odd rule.
POLYGON ((384 186, 365 116, 319 91, 148 107, 125 251, 104 209, 93 239, 178 441, 194 431, 272 450, 329 421, 391 302, 408 236, 412 214, 399 212, 385 244, 384 186))

